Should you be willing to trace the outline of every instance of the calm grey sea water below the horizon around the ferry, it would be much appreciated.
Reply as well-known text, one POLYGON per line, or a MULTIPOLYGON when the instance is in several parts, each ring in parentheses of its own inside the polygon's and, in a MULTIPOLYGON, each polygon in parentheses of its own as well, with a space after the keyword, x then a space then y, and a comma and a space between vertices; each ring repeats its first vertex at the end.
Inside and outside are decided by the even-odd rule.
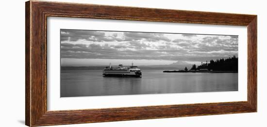
POLYGON ((61 97, 237 91, 238 73, 163 73, 142 78, 103 77, 102 70, 62 70, 61 97))

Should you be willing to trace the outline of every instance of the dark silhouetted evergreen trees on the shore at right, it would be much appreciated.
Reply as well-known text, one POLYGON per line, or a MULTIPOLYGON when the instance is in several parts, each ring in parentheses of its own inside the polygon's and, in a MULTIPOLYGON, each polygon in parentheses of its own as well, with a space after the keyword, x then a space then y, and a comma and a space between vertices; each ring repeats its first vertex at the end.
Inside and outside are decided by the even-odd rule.
MULTIPOLYGON (((186 68, 187 69, 187 68, 186 68)), ((232 58, 227 59, 217 59, 216 61, 210 60, 206 61, 206 63, 202 63, 198 67, 196 64, 193 64, 190 70, 200 70, 200 69, 208 69, 208 70, 216 70, 216 71, 238 71, 238 58, 233 56, 232 58)))

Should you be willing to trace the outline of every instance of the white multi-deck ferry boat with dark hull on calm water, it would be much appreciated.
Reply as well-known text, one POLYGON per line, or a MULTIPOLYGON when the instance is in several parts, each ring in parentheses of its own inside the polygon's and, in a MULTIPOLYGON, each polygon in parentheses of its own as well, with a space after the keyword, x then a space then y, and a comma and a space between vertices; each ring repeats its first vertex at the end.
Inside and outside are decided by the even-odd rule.
POLYGON ((119 64, 117 68, 113 68, 111 63, 109 63, 109 66, 106 66, 103 70, 103 76, 141 77, 142 71, 139 67, 134 66, 134 63, 129 67, 119 64))

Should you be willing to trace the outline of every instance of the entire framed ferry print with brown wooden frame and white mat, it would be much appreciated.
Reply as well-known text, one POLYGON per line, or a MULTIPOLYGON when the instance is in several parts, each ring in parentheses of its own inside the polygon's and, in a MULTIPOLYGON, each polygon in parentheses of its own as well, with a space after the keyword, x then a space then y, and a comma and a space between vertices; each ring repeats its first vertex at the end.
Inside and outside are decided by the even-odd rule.
POLYGON ((257 111, 257 16, 26 2, 26 125, 257 111))

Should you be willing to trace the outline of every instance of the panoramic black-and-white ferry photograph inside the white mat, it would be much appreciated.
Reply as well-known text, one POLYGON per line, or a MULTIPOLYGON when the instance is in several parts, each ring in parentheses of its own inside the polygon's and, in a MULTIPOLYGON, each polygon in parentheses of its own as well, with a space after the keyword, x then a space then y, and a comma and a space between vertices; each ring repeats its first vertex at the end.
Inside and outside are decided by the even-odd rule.
POLYGON ((60 30, 60 96, 238 91, 238 36, 60 30))

